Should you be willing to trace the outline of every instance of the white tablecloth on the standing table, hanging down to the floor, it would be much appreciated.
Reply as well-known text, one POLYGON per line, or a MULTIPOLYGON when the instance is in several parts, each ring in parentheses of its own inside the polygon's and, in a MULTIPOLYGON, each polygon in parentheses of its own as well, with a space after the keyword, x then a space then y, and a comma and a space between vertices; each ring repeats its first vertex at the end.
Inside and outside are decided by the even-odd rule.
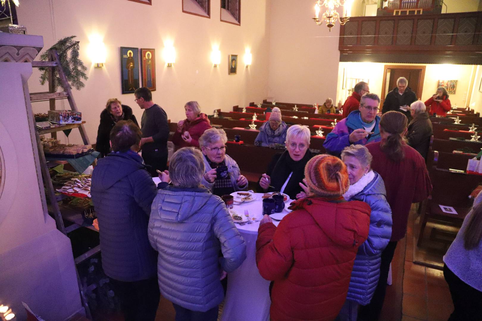
MULTIPOLYGON (((249 211, 250 217, 261 219, 263 216, 262 193, 256 193, 256 200, 234 205, 240 214, 249 211)), ((287 207, 288 203, 285 203, 287 207)), ((288 214, 286 209, 284 213, 288 214)), ((279 222, 273 220, 278 226, 279 222)), ((269 281, 263 279, 256 267, 256 238, 259 222, 240 226, 235 223, 246 242, 246 260, 241 266, 228 274, 228 291, 224 301, 221 321, 269 321, 269 281)))

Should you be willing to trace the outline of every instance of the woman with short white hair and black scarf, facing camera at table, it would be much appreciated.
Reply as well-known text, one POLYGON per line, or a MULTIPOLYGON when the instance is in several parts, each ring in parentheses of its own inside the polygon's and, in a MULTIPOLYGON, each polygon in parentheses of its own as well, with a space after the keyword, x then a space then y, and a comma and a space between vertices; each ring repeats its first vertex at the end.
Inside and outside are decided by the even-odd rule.
POLYGON ((293 125, 286 134, 286 151, 273 156, 266 173, 259 179, 258 192, 281 192, 291 199, 306 197, 300 186, 305 165, 314 156, 309 150, 309 128, 293 125))

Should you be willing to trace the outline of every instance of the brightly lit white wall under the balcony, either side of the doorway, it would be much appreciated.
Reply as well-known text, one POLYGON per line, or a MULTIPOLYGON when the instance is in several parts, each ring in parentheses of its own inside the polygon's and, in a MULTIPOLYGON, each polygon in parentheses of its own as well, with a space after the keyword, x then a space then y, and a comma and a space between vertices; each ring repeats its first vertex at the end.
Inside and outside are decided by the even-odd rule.
MULTIPOLYGON (((351 78, 369 78, 370 92, 378 95, 382 92, 384 63, 345 63, 339 65, 339 72, 343 75, 343 68, 351 78)), ((426 101, 437 90, 438 80, 458 80, 455 94, 450 95, 450 103, 458 107, 466 106, 473 65, 466 64, 389 64, 389 65, 425 65, 425 78, 422 89, 422 101, 426 101)), ((479 77, 480 81, 480 77, 479 77)), ((340 82, 341 83, 341 82, 340 82)), ((480 82, 479 82, 480 84, 480 82)), ((410 84, 409 84, 410 86, 410 84)), ((393 88, 392 88, 393 89, 393 88)), ((337 99, 344 98, 346 94, 338 86, 337 99)), ((387 94, 387 92, 385 93, 387 94)), ((482 93, 481 93, 482 94, 482 93)), ((384 98, 384 97, 383 97, 384 98)), ((420 97, 419 97, 420 98, 420 97)), ((343 100, 343 99, 342 99, 343 100)))

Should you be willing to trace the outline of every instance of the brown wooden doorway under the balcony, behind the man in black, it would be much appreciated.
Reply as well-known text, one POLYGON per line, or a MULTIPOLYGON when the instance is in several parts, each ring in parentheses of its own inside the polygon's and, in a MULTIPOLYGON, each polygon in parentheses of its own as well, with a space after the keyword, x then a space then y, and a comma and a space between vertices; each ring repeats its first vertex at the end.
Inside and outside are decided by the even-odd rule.
POLYGON ((388 92, 397 87, 397 79, 405 77, 408 80, 408 87, 415 92, 417 99, 422 98, 423 81, 425 78, 425 66, 410 65, 388 65, 383 70, 382 96, 380 106, 387 97, 388 92))

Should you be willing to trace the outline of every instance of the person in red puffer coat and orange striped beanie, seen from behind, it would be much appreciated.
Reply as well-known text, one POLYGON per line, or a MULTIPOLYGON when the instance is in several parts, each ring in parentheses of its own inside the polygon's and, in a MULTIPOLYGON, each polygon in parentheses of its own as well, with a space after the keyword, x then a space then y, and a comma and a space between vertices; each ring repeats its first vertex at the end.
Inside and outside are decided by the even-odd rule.
POLYGON ((353 261, 368 237, 370 206, 347 202, 347 167, 317 155, 305 167, 308 197, 295 201, 278 228, 267 215, 256 241, 256 265, 274 281, 271 321, 332 321, 347 297, 353 261))

